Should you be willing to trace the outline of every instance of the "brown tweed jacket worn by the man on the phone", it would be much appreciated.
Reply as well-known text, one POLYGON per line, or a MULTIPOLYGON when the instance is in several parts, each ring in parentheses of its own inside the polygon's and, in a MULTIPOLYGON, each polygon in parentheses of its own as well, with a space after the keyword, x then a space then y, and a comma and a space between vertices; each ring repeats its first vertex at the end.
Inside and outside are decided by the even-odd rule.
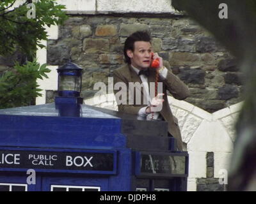
MULTIPOLYGON (((173 75, 168 62, 167 63, 164 62, 164 66, 168 69, 168 74, 167 74, 167 77, 165 80, 161 80, 161 78, 159 78, 159 82, 163 82, 163 93, 164 93, 163 108, 162 108, 160 114, 162 115, 163 119, 166 122, 168 122, 168 132, 173 137, 175 137, 177 139, 177 148, 179 150, 182 150, 182 138, 180 135, 178 120, 172 114, 172 111, 168 104, 166 91, 168 90, 170 92, 170 94, 172 94, 172 96, 175 99, 182 100, 189 96, 189 89, 178 77, 173 75)), ((148 76, 148 82, 155 82, 155 78, 156 78, 155 69, 149 68, 149 71, 150 71, 150 73, 148 76)), ((127 99, 124 99, 126 104, 122 103, 122 104, 118 105, 118 111, 125 112, 125 113, 131 113, 131 114, 138 114, 138 111, 140 110, 140 108, 147 106, 147 105, 143 105, 143 89, 140 89, 140 91, 141 91, 140 105, 135 104, 135 101, 136 101, 135 92, 136 91, 134 91, 133 96, 131 96, 130 98, 128 97, 129 82, 139 82, 140 84, 142 83, 140 77, 137 75, 137 73, 134 71, 134 69, 131 68, 131 66, 129 64, 125 64, 124 66, 122 66, 118 69, 115 69, 115 71, 113 71, 113 77, 114 77, 114 85, 117 82, 124 82, 124 84, 127 87, 127 92, 125 93, 125 94, 127 94, 127 99), (129 101, 131 101, 131 103, 129 103, 129 101), (133 104, 133 105, 129 105, 129 104, 133 104)), ((116 93, 117 92, 120 93, 120 91, 122 92, 121 88, 118 90, 114 89, 116 97, 120 96, 120 94, 118 94, 118 96, 116 95, 116 93)))

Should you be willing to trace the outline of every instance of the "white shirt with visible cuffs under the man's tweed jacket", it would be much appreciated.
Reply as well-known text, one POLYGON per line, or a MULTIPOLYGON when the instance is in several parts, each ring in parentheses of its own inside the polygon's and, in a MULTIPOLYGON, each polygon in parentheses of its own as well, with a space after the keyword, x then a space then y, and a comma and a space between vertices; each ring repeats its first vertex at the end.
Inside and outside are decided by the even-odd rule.
MULTIPOLYGON (((139 72, 140 72, 140 69, 138 68, 135 68, 134 66, 132 66, 132 69, 134 69, 134 71, 136 71, 137 75, 139 75, 139 72)), ((168 69, 166 69, 164 67, 164 69, 162 69, 161 71, 159 71, 159 77, 161 77, 162 80, 166 79, 167 77, 167 72, 168 72, 168 69)), ((151 98, 150 98, 150 95, 149 95, 149 88, 148 88, 148 78, 147 76, 145 75, 140 75, 139 76, 140 79, 141 79, 141 82, 143 83, 143 86, 145 88, 145 92, 146 92, 146 97, 148 99, 148 104, 150 105, 151 104, 151 98)), ((145 106, 143 108, 140 108, 139 112, 138 112, 138 116, 140 117, 147 117, 147 119, 152 119, 152 113, 147 113, 146 112, 146 109, 147 109, 148 106, 145 106)), ((159 112, 154 112, 154 115, 153 115, 153 119, 158 119, 159 117, 159 112)))

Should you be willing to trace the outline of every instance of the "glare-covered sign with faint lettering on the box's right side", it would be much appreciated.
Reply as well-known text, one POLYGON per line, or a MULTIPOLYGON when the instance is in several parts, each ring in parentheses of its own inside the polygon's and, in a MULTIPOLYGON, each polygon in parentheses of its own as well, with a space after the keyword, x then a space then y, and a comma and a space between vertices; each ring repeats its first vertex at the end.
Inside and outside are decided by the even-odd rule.
POLYGON ((188 152, 136 152, 138 177, 188 177, 188 152))

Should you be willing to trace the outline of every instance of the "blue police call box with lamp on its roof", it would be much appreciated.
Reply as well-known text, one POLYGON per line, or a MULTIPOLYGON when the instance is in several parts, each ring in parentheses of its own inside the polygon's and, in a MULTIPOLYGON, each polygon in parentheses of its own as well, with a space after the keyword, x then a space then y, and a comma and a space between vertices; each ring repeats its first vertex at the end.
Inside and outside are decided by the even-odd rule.
POLYGON ((0 110, 0 191, 186 191, 166 122, 83 105, 81 70, 58 73, 55 103, 0 110))

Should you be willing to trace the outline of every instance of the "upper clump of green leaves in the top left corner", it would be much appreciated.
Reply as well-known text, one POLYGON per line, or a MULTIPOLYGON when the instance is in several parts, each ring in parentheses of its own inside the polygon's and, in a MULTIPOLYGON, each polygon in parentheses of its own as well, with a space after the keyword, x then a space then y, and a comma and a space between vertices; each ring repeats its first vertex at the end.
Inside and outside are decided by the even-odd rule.
POLYGON ((65 6, 58 5, 56 0, 32 1, 36 18, 28 18, 29 1, 12 8, 15 1, 0 1, 0 55, 12 54, 18 48, 28 57, 35 56, 36 47, 44 47, 40 41, 47 40, 46 25, 63 24, 67 20, 65 6))

